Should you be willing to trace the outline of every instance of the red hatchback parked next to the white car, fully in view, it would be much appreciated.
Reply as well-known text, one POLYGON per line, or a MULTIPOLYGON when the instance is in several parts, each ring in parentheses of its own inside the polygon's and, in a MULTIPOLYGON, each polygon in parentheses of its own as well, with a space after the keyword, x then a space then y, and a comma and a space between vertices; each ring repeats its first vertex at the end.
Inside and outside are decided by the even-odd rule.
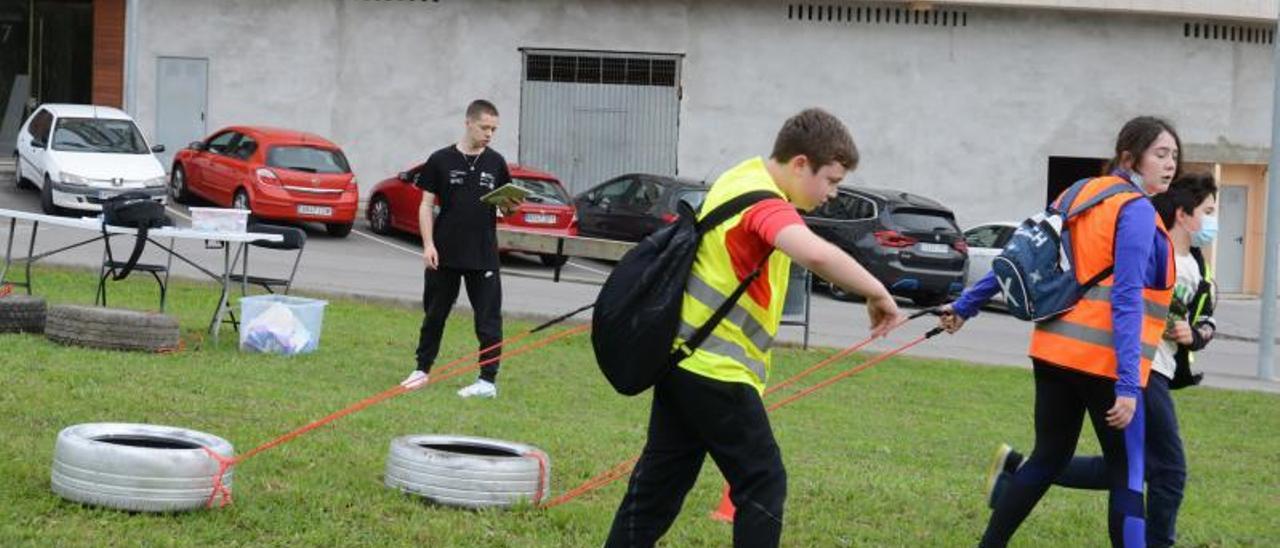
POLYGON ((198 196, 260 219, 324 223, 339 238, 351 233, 360 204, 342 149, 292 129, 223 128, 178 151, 170 173, 178 202, 198 196))

